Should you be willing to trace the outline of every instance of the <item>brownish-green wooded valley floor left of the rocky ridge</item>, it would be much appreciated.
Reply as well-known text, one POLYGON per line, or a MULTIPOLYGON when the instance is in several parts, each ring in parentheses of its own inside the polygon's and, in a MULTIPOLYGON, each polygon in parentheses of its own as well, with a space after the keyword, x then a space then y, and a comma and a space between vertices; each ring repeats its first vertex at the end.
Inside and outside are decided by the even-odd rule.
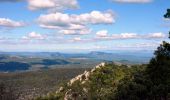
POLYGON ((54 92, 58 86, 89 68, 56 68, 43 71, 0 73, 0 83, 16 89, 21 100, 54 92))

